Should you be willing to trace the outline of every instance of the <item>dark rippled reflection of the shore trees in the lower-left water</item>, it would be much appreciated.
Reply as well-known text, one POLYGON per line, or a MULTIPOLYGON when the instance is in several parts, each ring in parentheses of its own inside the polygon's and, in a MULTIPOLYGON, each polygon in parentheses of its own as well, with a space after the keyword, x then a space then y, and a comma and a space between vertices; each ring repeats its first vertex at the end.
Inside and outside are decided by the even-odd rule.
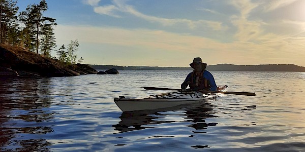
POLYGON ((46 139, 54 112, 50 79, 4 79, 0 83, 0 151, 49 151, 46 139))

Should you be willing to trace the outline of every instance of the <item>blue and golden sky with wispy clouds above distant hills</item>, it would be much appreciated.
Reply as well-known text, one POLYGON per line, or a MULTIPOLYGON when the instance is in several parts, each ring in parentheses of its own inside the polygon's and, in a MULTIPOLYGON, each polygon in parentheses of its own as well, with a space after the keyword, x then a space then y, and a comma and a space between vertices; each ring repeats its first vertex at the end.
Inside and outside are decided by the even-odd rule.
POLYGON ((46 2, 56 49, 77 40, 85 64, 188 67, 201 57, 208 65, 305 66, 305 0, 46 2))

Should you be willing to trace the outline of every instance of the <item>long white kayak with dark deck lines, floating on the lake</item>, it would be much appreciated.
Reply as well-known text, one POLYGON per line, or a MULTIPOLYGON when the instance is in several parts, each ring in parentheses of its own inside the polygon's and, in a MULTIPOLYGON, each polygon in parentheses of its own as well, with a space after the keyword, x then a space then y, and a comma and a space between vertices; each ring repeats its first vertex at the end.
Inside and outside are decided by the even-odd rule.
MULTIPOLYGON (((218 87, 218 91, 227 92, 228 86, 218 87)), ((180 90, 149 96, 146 98, 114 98, 115 104, 122 111, 150 110, 174 107, 182 104, 193 104, 216 99, 222 93, 202 93, 198 91, 180 90)))

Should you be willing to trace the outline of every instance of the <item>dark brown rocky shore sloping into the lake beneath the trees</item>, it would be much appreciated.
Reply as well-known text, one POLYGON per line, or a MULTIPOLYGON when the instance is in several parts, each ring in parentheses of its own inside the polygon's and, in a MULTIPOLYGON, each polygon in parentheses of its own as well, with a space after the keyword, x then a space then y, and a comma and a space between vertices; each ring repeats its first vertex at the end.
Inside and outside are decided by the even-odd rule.
POLYGON ((86 64, 68 66, 25 49, 0 45, 0 77, 66 77, 96 74, 86 64))

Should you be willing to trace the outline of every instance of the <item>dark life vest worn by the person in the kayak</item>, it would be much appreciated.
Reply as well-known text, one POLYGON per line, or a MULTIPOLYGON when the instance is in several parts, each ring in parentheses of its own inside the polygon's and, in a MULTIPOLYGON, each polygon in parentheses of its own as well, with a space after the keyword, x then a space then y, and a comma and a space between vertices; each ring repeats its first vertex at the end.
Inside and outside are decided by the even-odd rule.
POLYGON ((191 83, 190 83, 190 88, 192 90, 209 89, 209 83, 207 79, 203 77, 203 71, 204 70, 202 70, 199 75, 196 75, 195 71, 193 71, 191 75, 191 83))

